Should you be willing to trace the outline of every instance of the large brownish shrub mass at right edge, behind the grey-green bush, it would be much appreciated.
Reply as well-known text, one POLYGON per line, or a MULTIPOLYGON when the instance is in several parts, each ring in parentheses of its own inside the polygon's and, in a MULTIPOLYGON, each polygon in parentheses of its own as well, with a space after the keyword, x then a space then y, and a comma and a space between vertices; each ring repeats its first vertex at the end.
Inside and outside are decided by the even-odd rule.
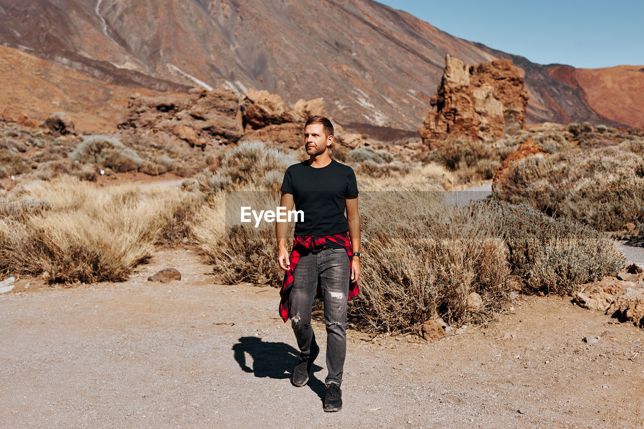
POLYGON ((627 222, 644 222, 643 155, 644 141, 632 140, 527 157, 511 164, 494 196, 600 231, 616 231, 627 222))

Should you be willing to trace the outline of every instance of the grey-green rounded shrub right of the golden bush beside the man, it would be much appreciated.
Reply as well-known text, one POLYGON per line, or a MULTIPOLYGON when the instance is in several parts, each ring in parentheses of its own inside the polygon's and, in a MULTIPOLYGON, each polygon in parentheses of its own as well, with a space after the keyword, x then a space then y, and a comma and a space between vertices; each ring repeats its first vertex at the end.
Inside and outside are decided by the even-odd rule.
POLYGON ((614 275, 624 258, 611 241, 591 227, 553 219, 527 205, 476 202, 473 207, 493 214, 502 231, 512 274, 529 291, 570 294, 576 285, 614 275))

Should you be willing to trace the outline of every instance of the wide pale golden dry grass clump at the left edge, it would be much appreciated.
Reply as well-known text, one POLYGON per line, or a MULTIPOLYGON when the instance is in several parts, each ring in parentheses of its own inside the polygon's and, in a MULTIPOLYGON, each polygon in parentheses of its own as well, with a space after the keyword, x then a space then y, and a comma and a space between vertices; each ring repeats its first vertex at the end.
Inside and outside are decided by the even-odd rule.
POLYGON ((196 205, 178 189, 99 190, 69 177, 31 182, 12 197, 14 211, 24 209, 0 220, 0 272, 48 271, 64 283, 125 280, 196 205), (33 208, 41 206, 48 209, 33 208))

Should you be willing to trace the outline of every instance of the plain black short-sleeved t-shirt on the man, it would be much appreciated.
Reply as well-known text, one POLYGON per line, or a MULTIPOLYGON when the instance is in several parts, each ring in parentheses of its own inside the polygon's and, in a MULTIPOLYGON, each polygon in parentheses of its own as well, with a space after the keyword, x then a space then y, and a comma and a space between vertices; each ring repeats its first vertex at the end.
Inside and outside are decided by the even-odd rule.
POLYGON ((295 209, 304 212, 304 222, 296 222, 295 235, 346 233, 345 198, 358 195, 354 170, 331 160, 315 168, 308 160, 290 166, 284 173, 281 190, 293 195, 295 209))

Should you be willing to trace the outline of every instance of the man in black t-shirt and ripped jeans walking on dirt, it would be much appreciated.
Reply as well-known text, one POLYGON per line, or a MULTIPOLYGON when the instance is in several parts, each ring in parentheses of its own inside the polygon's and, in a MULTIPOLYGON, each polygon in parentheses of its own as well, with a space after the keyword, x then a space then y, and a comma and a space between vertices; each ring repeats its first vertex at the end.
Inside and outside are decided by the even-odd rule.
POLYGON ((329 157, 334 139, 330 120, 314 116, 304 127, 309 159, 290 166, 281 186, 279 205, 304 212, 295 226, 292 252, 286 249, 289 224, 276 222, 278 263, 285 271, 279 312, 290 319, 300 350, 292 383, 304 386, 319 354, 311 327, 311 307, 324 298, 327 325, 327 392, 324 410, 342 408, 343 368, 346 355, 346 305, 359 293, 360 218, 358 189, 351 167, 329 157), (346 216, 345 216, 346 209, 346 216), (348 234, 347 234, 348 233, 348 234))

